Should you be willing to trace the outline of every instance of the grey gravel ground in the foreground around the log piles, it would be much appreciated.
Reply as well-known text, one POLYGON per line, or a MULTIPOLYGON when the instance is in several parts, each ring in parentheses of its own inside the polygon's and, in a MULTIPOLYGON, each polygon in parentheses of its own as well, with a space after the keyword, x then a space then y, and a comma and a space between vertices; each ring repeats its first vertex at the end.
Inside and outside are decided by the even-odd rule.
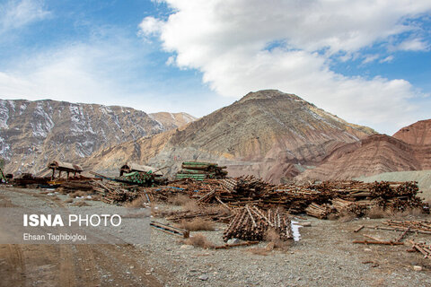
MULTIPOLYGON (((34 191, 38 196, 30 197, 20 193, 19 189, 15 192, 12 192, 13 188, 9 190, 9 205, 31 207, 54 201, 67 206, 66 196, 40 195, 40 191, 34 191)), ((109 206, 94 201, 87 203, 92 206, 109 206)), ((159 207, 178 209, 166 205, 159 207)), ((155 220, 166 223, 163 218, 155 220)), ((151 230, 149 242, 116 249, 119 249, 119 257, 128 255, 130 260, 136 254, 133 259, 137 265, 145 265, 141 274, 154 276, 164 286, 431 286, 431 260, 416 252, 406 252, 409 245, 365 246, 352 243, 354 239, 364 239, 363 234, 382 239, 397 238, 399 232, 394 231, 365 228, 358 233, 353 232, 360 225, 373 226, 383 222, 383 219, 339 222, 306 217, 300 222, 304 221, 311 222, 312 226, 300 229, 302 239, 292 242, 283 250, 272 250, 267 256, 252 254, 249 249, 256 246, 227 250, 194 248, 184 245, 179 237, 154 229, 151 230), (422 270, 415 271, 415 265, 422 270)), ((222 245, 226 225, 217 223, 216 227, 215 231, 198 231, 191 235, 202 233, 214 244, 222 245)), ((136 225, 137 228, 140 227, 136 225)), ((409 234, 408 239, 429 243, 431 236, 409 234)), ((257 247, 265 246, 266 243, 263 242, 257 247)), ((92 254, 96 254, 95 251, 92 254)), ((95 264, 103 265, 107 262, 95 264)), ((101 270, 108 268, 107 265, 101 270)), ((104 275, 106 274, 101 274, 104 275)))

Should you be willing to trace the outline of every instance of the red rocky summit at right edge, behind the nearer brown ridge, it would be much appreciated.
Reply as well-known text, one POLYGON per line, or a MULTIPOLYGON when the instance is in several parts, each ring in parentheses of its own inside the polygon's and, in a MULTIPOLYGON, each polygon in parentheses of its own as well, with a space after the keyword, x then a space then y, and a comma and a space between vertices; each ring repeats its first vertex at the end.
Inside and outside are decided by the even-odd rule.
POLYGON ((431 119, 401 128, 393 137, 410 144, 431 144, 431 119))

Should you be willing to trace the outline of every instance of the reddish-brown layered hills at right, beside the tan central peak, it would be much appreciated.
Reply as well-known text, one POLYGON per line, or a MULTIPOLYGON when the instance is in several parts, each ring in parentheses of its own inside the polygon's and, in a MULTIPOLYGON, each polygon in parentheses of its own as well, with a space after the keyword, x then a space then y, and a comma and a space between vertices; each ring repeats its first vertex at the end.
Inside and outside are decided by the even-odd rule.
POLYGON ((296 179, 346 179, 383 172, 430 170, 429 123, 420 121, 403 127, 393 136, 370 135, 360 142, 347 143, 330 152, 317 168, 305 170, 296 179))

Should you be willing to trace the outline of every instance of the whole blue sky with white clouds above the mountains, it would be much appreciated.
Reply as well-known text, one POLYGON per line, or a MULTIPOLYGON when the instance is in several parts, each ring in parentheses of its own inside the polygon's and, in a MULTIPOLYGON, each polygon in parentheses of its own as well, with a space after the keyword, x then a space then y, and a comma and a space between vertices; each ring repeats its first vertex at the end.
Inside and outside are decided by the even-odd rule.
POLYGON ((429 0, 0 0, 0 98, 205 116, 295 93, 392 135, 431 118, 429 0))

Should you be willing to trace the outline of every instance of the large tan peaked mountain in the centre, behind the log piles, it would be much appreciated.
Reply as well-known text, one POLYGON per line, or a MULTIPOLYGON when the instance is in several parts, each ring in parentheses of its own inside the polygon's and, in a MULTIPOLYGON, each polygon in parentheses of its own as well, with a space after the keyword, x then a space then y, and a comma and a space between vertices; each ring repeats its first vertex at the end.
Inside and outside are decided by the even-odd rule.
POLYGON ((321 162, 340 145, 374 133, 294 94, 266 90, 176 130, 103 149, 85 165, 115 173, 122 161, 138 161, 167 166, 172 174, 181 161, 217 161, 228 166, 230 175, 279 182, 321 162))

